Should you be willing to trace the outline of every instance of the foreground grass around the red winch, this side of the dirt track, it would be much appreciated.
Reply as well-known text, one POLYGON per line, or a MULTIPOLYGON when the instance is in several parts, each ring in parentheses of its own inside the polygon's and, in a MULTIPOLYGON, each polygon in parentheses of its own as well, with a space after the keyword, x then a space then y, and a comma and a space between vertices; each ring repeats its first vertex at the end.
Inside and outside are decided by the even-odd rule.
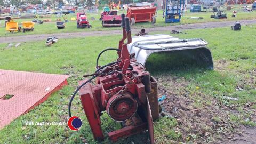
MULTIPOLYGON (((233 132, 239 125, 256 125, 256 43, 254 41, 256 36, 249 36, 249 34, 256 34, 255 27, 256 25, 243 26, 241 31, 233 31, 229 27, 187 30, 188 34, 174 35, 180 38, 203 38, 209 42, 208 47, 212 50, 215 70, 161 71, 159 73, 151 69, 150 73, 158 79, 159 89, 172 90, 176 82, 177 89, 174 92, 177 93, 172 94, 179 99, 183 98, 181 92, 186 91, 188 93, 186 99, 191 102, 187 107, 203 110, 209 106, 218 109, 232 106, 239 115, 225 110, 227 118, 218 113, 210 117, 214 123, 221 124, 222 121, 227 121, 229 124, 227 127, 219 127, 218 131, 211 128, 208 123, 194 119, 193 121, 198 120, 202 126, 202 129, 197 132, 193 131, 191 125, 183 125, 180 118, 161 118, 154 122, 157 143, 179 141, 211 143, 221 137, 222 132, 233 132), (175 80, 165 80, 172 78, 175 80), (180 85, 184 82, 186 85, 180 85), (238 87, 239 90, 237 90, 238 87), (238 100, 229 101, 222 96, 235 97, 238 100), (247 107, 246 103, 250 103, 250 107, 247 107), (201 131, 206 131, 210 135, 201 136, 201 131)), ((0 44, 0 69, 70 75, 68 86, 0 130, 0 143, 97 143, 93 140, 78 97, 73 101, 72 113, 83 119, 83 126, 77 132, 69 130, 67 126, 26 126, 25 121, 67 122, 68 102, 77 86, 77 81, 83 79, 84 74, 94 71, 98 53, 106 47, 116 47, 120 37, 121 35, 59 39, 58 43, 51 47, 46 47, 44 41, 27 42, 18 48, 10 49, 5 49, 6 44, 0 44), (98 43, 99 41, 101 43, 98 43)), ((115 59, 115 52, 108 52, 102 55, 100 64, 115 59)), ((162 69, 161 66, 159 65, 158 70, 162 69)), ((159 91, 159 94, 162 92, 159 91)), ((172 100, 166 100, 165 106, 169 104, 172 105, 172 100)), ((193 113, 191 115, 194 116, 193 113)), ((101 121, 104 134, 119 127, 119 124, 111 121, 106 113, 101 117, 101 121)), ((117 143, 131 143, 131 141, 148 143, 148 135, 143 133, 117 143)), ((103 143, 110 143, 110 141, 106 139, 103 143)))

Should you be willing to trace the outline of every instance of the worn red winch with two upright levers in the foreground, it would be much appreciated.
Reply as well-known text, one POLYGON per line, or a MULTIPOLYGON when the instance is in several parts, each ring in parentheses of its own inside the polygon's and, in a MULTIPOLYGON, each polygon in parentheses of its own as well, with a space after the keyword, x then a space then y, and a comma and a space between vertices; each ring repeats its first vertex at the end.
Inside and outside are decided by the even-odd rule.
POLYGON ((118 49, 103 50, 97 58, 97 70, 90 79, 79 82, 79 87, 69 103, 79 90, 80 99, 96 140, 103 140, 100 116, 102 111, 113 121, 121 122, 123 128, 108 133, 110 140, 129 137, 148 130, 151 143, 154 143, 153 120, 157 119, 157 82, 150 76, 146 68, 129 54, 127 44, 132 42, 129 18, 121 14, 123 38, 118 49), (124 41, 127 39, 127 42, 124 41), (116 50, 118 59, 104 66, 98 66, 100 55, 108 50, 116 50), (95 85, 89 82, 96 78, 95 85))

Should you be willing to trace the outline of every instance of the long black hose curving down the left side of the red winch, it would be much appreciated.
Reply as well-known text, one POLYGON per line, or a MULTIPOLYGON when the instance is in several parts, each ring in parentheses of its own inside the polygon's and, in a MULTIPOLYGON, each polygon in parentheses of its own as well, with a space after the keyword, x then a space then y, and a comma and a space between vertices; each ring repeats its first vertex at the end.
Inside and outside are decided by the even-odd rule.
MULTIPOLYGON (((120 60, 115 61, 115 62, 108 63, 107 65, 104 65, 104 66, 98 68, 98 69, 95 71, 95 73, 98 73, 99 70, 101 70, 101 69, 103 69, 103 68, 105 68, 105 67, 107 67, 107 66, 114 65, 115 63, 118 63, 118 62, 120 62, 120 60)), ((104 70, 102 70, 99 74, 94 75, 93 77, 91 77, 90 79, 88 79, 86 82, 84 82, 83 84, 81 84, 81 85, 76 89, 76 91, 73 93, 72 97, 71 97, 70 100, 69 100, 69 105, 68 105, 68 115, 69 115, 69 117, 72 116, 72 115, 71 115, 71 104, 72 104, 72 101, 73 101, 73 99, 74 99, 76 93, 81 89, 81 87, 83 87, 85 84, 87 84, 87 83, 89 83, 90 81, 92 81, 92 79, 98 77, 98 76, 99 76, 100 74, 102 74, 103 72, 104 72, 104 70)))

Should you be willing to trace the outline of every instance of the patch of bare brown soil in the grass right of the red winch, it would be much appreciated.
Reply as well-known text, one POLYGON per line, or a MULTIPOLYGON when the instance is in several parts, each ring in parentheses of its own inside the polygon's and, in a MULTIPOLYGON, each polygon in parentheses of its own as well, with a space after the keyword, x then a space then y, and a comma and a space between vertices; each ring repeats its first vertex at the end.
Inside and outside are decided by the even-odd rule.
POLYGON ((182 77, 157 77, 158 92, 166 95, 165 115, 175 117, 181 141, 210 143, 230 137, 235 126, 228 120, 230 109, 218 100, 195 90, 188 91, 189 81, 182 77))

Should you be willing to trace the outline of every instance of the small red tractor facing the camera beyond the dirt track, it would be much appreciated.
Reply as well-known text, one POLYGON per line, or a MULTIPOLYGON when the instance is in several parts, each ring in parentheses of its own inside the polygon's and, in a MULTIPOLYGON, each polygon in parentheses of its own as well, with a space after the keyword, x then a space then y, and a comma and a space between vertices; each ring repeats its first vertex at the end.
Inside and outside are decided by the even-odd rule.
POLYGON ((89 24, 87 16, 84 12, 76 13, 76 28, 91 28, 92 26, 89 24))

